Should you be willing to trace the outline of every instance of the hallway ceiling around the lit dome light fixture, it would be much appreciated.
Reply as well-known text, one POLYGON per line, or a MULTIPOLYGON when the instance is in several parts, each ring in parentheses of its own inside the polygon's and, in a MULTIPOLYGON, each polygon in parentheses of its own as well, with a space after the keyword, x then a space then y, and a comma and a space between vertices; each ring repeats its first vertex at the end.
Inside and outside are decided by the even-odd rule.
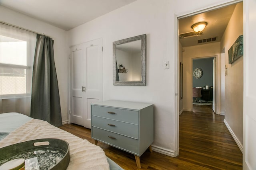
POLYGON ((234 12, 235 6, 236 4, 224 8, 219 8, 217 10, 204 12, 195 16, 179 19, 179 34, 193 31, 191 25, 193 25, 194 23, 202 21, 208 23, 204 31, 202 31, 203 35, 180 39, 182 47, 199 45, 199 39, 207 39, 212 37, 217 37, 217 40, 213 42, 219 42, 228 25, 230 17, 234 12))

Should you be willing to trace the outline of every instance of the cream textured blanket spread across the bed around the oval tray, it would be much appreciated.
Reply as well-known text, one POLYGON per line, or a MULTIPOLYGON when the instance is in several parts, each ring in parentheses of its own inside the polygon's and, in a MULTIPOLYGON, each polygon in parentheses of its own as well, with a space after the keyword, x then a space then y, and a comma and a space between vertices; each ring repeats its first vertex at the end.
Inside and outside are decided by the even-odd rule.
POLYGON ((107 158, 100 147, 38 119, 32 119, 12 131, 0 141, 0 148, 42 138, 57 138, 69 143, 70 163, 67 170, 109 170, 107 158))

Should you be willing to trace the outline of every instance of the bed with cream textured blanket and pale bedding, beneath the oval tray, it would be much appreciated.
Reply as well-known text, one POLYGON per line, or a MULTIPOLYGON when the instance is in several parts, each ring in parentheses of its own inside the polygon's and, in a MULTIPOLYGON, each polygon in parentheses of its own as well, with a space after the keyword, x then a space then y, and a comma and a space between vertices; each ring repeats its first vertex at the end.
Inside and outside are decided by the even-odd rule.
POLYGON ((123 170, 100 147, 46 121, 21 113, 0 114, 0 148, 42 138, 57 138, 68 142, 70 162, 67 170, 123 170))

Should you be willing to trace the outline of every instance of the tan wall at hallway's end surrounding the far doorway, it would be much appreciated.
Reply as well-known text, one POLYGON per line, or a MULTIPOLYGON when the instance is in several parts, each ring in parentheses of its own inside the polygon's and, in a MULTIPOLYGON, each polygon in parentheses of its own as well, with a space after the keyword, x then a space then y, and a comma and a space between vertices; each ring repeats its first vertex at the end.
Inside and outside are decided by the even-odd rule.
MULTIPOLYGON (((183 109, 192 111, 193 99, 193 77, 192 77, 192 61, 195 58, 216 57, 216 84, 219 84, 219 67, 220 63, 220 43, 209 43, 204 45, 196 45, 191 47, 183 47, 183 109)), ((216 86, 216 101, 220 100, 219 86, 216 86)), ((217 106, 217 112, 218 106, 217 106)))

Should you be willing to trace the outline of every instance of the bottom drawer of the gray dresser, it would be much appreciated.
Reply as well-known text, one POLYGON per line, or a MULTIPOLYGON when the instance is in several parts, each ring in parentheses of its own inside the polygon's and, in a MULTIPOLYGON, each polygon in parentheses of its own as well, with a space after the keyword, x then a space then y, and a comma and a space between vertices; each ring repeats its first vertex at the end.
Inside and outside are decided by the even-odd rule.
POLYGON ((119 135, 110 131, 92 127, 92 138, 103 141, 114 147, 138 154, 138 140, 123 135, 119 135))

